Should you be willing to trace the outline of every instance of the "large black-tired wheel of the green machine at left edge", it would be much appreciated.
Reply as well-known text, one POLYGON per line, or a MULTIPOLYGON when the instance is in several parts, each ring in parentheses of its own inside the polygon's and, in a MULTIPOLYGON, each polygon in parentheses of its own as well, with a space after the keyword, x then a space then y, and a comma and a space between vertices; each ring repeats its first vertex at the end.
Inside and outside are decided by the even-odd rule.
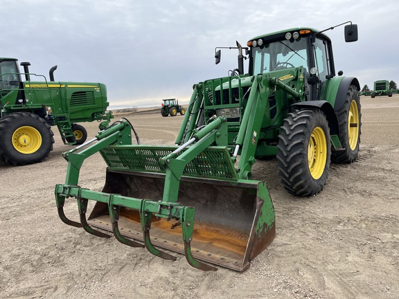
POLYGON ((0 120, 0 158, 18 166, 39 163, 53 150, 54 134, 46 120, 16 112, 0 120))

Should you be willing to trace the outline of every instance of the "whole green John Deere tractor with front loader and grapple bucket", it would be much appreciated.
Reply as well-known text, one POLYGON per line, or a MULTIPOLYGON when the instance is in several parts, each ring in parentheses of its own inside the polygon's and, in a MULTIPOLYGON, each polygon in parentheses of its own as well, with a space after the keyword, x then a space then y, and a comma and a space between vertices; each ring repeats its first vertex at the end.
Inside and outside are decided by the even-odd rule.
MULTIPOLYGON (((360 84, 336 75, 323 31, 292 28, 237 43, 238 69, 195 84, 175 146, 132 145, 130 124, 121 122, 90 147, 65 152, 67 178, 55 187, 62 221, 99 237, 112 232, 163 259, 176 257, 161 248, 184 253, 197 269, 245 271, 275 235, 267 185, 252 179, 256 159, 277 156, 283 187, 310 196, 323 189, 330 161, 357 158, 360 84), (78 184, 80 165, 96 152, 108 165, 102 192, 78 184), (64 213, 69 197, 78 199, 80 221, 64 213), (87 219, 89 200, 96 205, 87 219)), ((355 24, 345 37, 357 40, 355 24)))

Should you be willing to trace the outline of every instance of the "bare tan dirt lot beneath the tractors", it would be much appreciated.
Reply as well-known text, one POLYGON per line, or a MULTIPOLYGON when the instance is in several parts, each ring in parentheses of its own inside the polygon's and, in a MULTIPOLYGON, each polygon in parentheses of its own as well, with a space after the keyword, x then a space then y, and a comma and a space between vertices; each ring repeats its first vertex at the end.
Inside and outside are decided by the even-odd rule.
MULTIPOLYGON (((362 97, 360 157, 335 165, 321 194, 296 198, 279 185, 276 160, 257 161, 276 209, 276 239, 245 273, 205 273, 184 256, 161 260, 144 248, 62 223, 54 199, 70 149, 55 133, 43 163, 0 163, 1 298, 399 298, 399 96, 362 97)), ((134 114, 143 144, 173 144, 182 117, 134 114)), ((96 123, 87 125, 89 138, 96 123)), ((92 156, 80 185, 101 190, 105 163, 92 156)), ((78 219, 76 203, 66 207, 78 219)))

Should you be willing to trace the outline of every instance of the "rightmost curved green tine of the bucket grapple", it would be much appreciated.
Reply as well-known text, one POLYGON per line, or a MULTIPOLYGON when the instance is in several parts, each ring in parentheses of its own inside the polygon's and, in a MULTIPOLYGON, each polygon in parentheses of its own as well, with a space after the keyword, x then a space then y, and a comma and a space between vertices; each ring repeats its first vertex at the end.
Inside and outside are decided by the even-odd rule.
POLYGON ((184 239, 184 255, 186 255, 186 260, 188 264, 202 271, 218 270, 214 266, 195 260, 193 254, 191 253, 191 240, 193 239, 195 208, 186 206, 184 207, 182 214, 183 215, 181 217, 181 231, 183 232, 183 239, 184 239))

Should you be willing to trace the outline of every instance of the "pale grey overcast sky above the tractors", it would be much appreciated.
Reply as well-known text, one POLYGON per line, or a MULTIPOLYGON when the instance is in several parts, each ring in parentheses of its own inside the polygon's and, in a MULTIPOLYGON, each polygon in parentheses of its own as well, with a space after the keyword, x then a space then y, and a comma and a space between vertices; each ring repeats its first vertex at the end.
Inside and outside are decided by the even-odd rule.
MULTIPOLYGON (((188 102, 193 84, 226 76, 251 37, 276 30, 323 30, 345 21, 359 40, 344 42, 344 27, 329 30, 335 69, 361 87, 375 80, 399 84, 399 6, 380 1, 267 0, 0 0, 0 57, 28 61, 30 73, 56 81, 103 82, 112 109, 188 102)), ((247 64, 245 64, 247 68, 247 64)))

